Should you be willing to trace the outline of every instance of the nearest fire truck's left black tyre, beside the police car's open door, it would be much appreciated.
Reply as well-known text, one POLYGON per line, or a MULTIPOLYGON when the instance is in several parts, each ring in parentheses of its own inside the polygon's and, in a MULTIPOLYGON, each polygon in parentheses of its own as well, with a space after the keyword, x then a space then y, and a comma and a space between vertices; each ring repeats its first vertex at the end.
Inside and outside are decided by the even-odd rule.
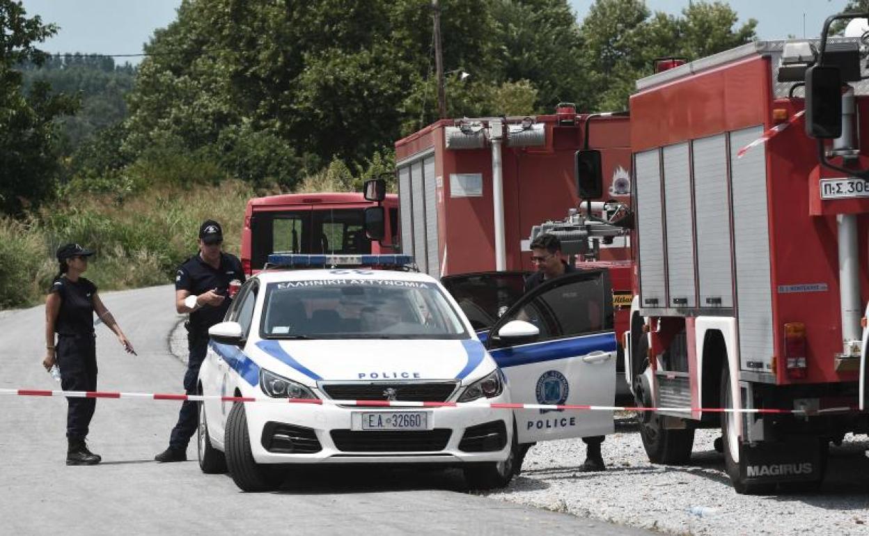
MULTIPOLYGON (((648 354, 648 338, 640 337, 637 344, 639 355, 648 354)), ((634 377, 634 394, 636 403, 640 407, 652 407, 653 401, 649 393, 646 377, 640 371, 634 377)), ((673 430, 663 427, 664 418, 654 412, 640 414, 640 439, 643 448, 652 463, 660 463, 668 466, 685 465, 691 460, 694 445, 694 429, 685 428, 673 430)))

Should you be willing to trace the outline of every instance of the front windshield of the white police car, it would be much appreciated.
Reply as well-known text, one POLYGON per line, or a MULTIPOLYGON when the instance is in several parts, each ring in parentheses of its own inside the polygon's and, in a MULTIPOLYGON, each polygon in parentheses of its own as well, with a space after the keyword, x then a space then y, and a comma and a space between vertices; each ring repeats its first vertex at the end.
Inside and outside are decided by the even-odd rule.
POLYGON ((458 314, 427 281, 270 283, 261 336, 269 339, 468 339, 458 314))

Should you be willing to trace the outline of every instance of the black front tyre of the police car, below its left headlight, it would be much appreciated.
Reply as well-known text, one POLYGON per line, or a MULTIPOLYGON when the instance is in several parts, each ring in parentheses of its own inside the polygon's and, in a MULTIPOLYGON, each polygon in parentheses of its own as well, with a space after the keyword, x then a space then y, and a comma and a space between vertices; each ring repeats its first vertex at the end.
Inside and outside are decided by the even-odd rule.
POLYGON ((245 492, 268 492, 281 484, 280 467, 264 466, 254 460, 243 402, 233 403, 229 410, 225 439, 226 463, 235 486, 245 492))

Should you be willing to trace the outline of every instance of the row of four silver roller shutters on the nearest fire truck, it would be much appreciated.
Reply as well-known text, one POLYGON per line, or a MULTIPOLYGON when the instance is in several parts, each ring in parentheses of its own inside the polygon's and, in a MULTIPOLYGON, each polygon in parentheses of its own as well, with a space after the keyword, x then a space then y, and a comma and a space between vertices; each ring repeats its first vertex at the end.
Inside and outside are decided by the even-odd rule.
POLYGON ((683 316, 733 314, 738 306, 740 368, 772 372, 766 148, 736 156, 762 133, 759 125, 642 151, 634 170, 641 307, 683 316))

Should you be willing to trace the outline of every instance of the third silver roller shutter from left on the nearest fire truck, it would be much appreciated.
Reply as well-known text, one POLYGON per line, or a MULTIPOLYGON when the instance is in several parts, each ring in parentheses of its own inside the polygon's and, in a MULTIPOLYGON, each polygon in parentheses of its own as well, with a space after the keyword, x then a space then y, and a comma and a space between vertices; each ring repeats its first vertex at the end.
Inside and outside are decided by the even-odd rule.
POLYGON ((692 153, 697 215, 694 226, 698 236, 697 280, 700 286, 698 307, 733 308, 726 135, 694 140, 692 153))

